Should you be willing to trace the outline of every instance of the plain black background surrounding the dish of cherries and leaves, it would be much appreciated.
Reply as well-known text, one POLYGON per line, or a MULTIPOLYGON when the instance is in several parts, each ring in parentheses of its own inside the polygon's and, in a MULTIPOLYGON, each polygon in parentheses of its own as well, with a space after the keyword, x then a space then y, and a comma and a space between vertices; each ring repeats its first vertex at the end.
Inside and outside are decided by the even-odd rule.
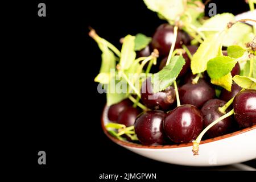
MULTIPOLYGON (((249 10, 244 1, 212 1, 217 13, 249 10), (226 2, 226 3, 225 3, 226 2)), ((189 168, 155 162, 111 142, 100 126, 105 96, 94 77, 101 52, 89 38, 89 26, 118 48, 119 39, 138 32, 151 36, 163 23, 143 1, 31 1, 9 5, 5 14, 10 52, 6 110, 5 159, 11 168, 46 174, 60 171, 99 173, 184 171, 189 168), (46 17, 38 3, 46 3, 46 17), (10 110, 9 110, 10 111, 10 110), (38 165, 38 151, 47 165, 38 165), (9 157, 10 156, 10 157, 9 157), (89 168, 86 169, 86 168, 89 168)), ((208 8, 206 8, 208 10, 208 8)))

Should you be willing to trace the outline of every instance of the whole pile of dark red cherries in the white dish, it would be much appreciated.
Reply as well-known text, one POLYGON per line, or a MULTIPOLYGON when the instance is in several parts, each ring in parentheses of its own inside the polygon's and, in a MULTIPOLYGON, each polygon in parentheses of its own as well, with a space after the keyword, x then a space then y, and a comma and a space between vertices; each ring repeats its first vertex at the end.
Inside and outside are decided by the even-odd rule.
MULTIPOLYGON (((152 36, 151 43, 141 51, 137 57, 149 56, 153 49, 158 49, 161 70, 166 65, 167 56, 172 45, 174 27, 170 24, 160 25, 152 36)), ((196 52, 197 46, 189 45, 187 33, 179 30, 175 48, 187 46, 191 55, 196 52)), ((223 52, 226 55, 226 52, 223 52)), ((210 83, 207 73, 201 73, 195 81, 192 75, 191 60, 187 52, 182 53, 185 65, 177 77, 177 87, 180 104, 176 104, 174 85, 157 93, 152 92, 151 78, 148 77, 141 87, 141 102, 148 110, 142 111, 129 100, 123 100, 112 105, 108 110, 110 122, 134 126, 139 142, 144 145, 187 143, 195 140, 198 135, 216 119, 234 109, 230 115, 219 121, 207 131, 205 138, 214 138, 233 131, 256 125, 256 90, 245 89, 235 82, 232 91, 222 89, 220 96, 216 96, 215 86, 210 83), (220 110, 234 97, 233 104, 225 111, 220 110)), ((237 63, 232 70, 232 76, 240 74, 240 65, 237 63)))

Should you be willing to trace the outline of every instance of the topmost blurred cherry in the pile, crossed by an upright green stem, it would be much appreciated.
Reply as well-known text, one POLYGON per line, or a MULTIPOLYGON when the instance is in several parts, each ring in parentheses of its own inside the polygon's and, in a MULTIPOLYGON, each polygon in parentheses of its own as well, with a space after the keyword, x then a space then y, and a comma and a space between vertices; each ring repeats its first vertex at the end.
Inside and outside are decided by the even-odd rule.
MULTIPOLYGON (((168 56, 172 39, 174 37, 174 26, 170 24, 161 24, 152 36, 151 48, 158 49, 160 56, 168 56)), ((178 30, 175 42, 175 48, 181 48, 182 44, 189 44, 190 39, 187 33, 178 30)))

